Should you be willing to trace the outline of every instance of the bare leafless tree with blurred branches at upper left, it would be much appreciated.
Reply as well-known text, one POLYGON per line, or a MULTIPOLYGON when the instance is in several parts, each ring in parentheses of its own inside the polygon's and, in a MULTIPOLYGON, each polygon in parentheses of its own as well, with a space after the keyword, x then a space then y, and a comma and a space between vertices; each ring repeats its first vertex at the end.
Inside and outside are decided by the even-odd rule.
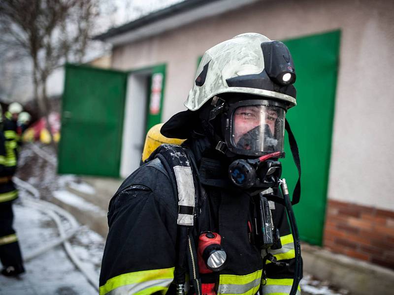
POLYGON ((82 61, 98 14, 99 0, 0 1, 0 43, 31 59, 34 98, 50 133, 48 76, 67 61, 82 61))

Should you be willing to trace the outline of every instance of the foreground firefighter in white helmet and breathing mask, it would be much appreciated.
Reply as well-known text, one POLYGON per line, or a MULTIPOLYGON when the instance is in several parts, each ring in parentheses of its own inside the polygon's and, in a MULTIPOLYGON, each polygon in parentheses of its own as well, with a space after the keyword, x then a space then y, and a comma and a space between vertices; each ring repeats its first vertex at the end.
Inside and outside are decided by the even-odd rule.
POLYGON ((238 185, 230 167, 283 152, 295 78, 286 46, 261 34, 205 52, 188 110, 161 128, 167 138, 186 139, 182 148, 156 149, 110 201, 101 295, 290 294, 296 262, 284 207, 269 203, 280 235, 267 247, 256 203, 267 189, 257 178, 238 185))

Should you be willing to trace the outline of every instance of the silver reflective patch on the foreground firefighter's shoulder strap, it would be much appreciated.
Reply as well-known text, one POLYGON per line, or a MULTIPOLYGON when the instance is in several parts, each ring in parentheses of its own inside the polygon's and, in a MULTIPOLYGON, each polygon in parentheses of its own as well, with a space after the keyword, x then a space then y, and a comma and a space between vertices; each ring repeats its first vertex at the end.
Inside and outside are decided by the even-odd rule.
MULTIPOLYGON (((195 189, 191 167, 174 166, 178 187, 178 206, 195 207, 195 189)), ((178 214, 179 225, 193 225, 193 214, 178 214), (186 215, 190 216, 186 218, 186 215)))

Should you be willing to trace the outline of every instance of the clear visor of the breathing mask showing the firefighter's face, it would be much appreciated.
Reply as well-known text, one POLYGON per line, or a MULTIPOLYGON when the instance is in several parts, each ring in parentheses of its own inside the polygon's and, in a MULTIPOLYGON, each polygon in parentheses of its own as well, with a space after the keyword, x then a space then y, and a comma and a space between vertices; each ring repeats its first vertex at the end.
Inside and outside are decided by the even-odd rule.
POLYGON ((249 153, 283 152, 285 110, 277 106, 240 106, 233 112, 231 144, 249 153))

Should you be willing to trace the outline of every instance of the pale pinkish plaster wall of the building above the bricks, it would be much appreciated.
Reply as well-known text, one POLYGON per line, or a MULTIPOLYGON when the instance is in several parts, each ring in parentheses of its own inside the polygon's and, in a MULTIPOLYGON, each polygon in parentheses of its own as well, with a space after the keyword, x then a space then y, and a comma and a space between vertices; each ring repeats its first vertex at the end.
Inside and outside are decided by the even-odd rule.
POLYGON ((249 31, 284 40, 341 29, 328 198, 394 210, 393 13, 392 0, 265 0, 117 47, 112 64, 167 63, 165 121, 184 110, 197 57, 213 45, 249 31))

